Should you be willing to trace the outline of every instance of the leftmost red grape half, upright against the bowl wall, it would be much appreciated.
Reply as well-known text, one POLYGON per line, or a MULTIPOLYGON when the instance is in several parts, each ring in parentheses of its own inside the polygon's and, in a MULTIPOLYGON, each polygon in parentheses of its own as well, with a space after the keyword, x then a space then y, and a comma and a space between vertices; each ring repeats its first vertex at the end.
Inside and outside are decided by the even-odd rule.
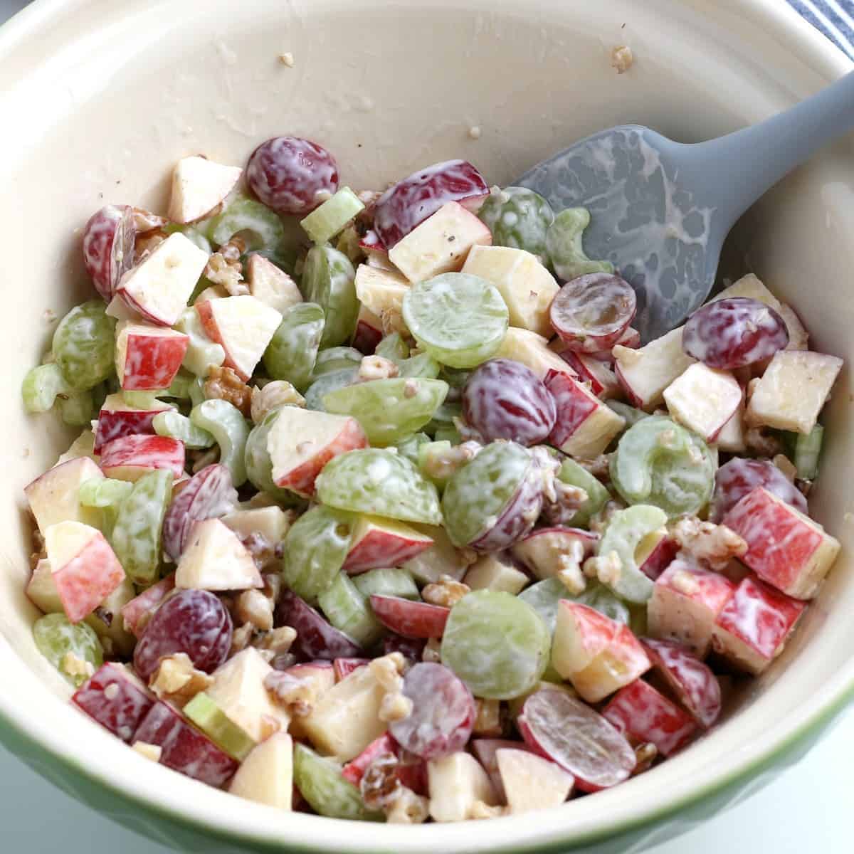
POLYGON ((119 279, 133 266, 137 228, 130 205, 107 205, 93 213, 83 231, 83 263, 95 290, 113 299, 119 279))

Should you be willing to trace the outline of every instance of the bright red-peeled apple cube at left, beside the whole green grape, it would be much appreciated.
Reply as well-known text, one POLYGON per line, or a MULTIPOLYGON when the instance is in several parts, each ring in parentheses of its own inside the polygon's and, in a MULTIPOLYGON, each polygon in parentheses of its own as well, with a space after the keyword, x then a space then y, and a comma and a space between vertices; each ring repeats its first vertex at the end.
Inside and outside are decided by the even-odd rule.
POLYGON ((183 332, 120 321, 115 335, 115 372, 122 389, 168 389, 190 344, 183 332))

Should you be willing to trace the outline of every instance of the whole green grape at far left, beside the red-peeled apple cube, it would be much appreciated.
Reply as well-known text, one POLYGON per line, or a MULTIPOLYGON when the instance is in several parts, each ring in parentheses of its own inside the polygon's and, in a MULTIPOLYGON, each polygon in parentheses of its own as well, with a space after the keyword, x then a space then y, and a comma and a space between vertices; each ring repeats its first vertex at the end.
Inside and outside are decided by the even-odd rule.
POLYGON ((84 302, 61 319, 53 338, 53 354, 73 389, 92 389, 114 371, 115 320, 102 300, 84 302))

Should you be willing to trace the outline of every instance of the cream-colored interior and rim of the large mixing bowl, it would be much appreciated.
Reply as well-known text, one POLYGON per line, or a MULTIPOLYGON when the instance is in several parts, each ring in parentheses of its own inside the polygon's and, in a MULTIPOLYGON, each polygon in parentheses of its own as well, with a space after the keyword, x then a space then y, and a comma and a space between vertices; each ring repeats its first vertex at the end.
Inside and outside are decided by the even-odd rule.
MULTIPOLYGON (((29 418, 20 380, 54 325, 91 298, 81 226, 105 202, 165 208, 183 155, 243 164, 291 133, 325 144, 342 182, 382 188, 465 157, 506 184, 577 137, 637 122, 684 141, 761 120, 845 70, 773 0, 40 0, 0 32, 0 234, 7 488, 0 570, 0 709, 92 775, 196 822, 318 849, 503 850, 577 839, 665 810, 772 752, 854 680, 850 372, 834 392, 810 503, 845 551, 796 639, 740 713, 680 757, 535 821, 377 828, 281 816, 128 751, 64 702, 32 645, 21 489, 70 436, 29 418), (629 44, 617 75, 610 50, 629 44), (278 61, 283 51, 295 66, 278 61), (479 126, 481 136, 469 135, 479 126), (477 827, 477 831, 474 828, 477 827)), ((726 181, 726 174, 721 175, 726 181)), ((828 149, 740 224, 729 272, 752 269, 793 303, 814 346, 854 357, 854 150, 828 149)), ((726 272, 726 271, 724 271, 726 272)))

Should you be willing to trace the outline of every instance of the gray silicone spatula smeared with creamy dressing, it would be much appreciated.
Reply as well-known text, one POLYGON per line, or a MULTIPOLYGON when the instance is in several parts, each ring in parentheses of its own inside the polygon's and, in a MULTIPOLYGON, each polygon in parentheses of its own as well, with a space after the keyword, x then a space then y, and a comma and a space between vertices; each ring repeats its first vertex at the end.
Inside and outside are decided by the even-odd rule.
POLYGON ((709 295, 736 219, 816 149, 854 127, 854 72, 786 112, 705 143, 621 125, 519 178, 555 212, 588 208, 589 258, 610 260, 635 288, 633 325, 649 341, 709 295))

